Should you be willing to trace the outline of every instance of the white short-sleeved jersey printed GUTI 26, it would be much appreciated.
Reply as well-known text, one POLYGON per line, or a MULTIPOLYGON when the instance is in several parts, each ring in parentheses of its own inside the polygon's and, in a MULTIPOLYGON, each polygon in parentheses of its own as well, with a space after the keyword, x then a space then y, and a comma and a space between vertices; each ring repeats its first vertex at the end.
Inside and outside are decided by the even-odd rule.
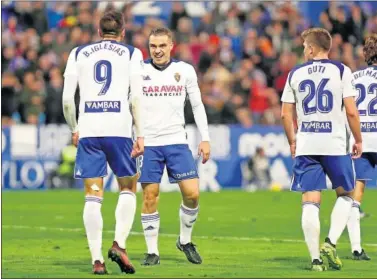
POLYGON ((296 104, 296 156, 349 153, 343 99, 356 95, 352 72, 340 62, 313 60, 289 73, 281 100, 296 104))

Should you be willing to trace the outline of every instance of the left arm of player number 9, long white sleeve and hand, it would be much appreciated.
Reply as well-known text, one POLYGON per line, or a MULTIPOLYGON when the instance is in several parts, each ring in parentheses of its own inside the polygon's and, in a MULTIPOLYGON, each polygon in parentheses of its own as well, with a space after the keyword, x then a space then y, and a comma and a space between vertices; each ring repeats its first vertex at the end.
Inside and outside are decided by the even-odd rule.
POLYGON ((75 92, 77 88, 76 48, 68 57, 67 66, 64 72, 63 88, 63 113, 64 118, 72 132, 73 144, 77 146, 78 131, 76 121, 75 92))

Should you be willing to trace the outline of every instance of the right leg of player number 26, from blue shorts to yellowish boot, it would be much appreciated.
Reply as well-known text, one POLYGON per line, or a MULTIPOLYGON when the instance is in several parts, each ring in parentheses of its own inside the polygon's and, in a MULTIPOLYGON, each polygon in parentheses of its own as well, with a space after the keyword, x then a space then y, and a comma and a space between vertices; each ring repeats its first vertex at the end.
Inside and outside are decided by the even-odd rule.
POLYGON ((336 243, 347 225, 353 204, 352 192, 355 187, 355 174, 350 155, 322 156, 321 163, 329 176, 337 199, 331 213, 328 237, 321 246, 321 254, 334 269, 341 269, 342 262, 336 252, 336 243))

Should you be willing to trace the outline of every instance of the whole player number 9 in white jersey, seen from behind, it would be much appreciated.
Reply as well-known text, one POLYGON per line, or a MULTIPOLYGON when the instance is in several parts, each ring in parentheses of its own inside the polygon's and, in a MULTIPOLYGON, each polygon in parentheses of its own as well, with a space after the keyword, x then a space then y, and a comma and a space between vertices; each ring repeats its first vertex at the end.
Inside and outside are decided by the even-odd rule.
POLYGON ((121 13, 106 13, 99 25, 102 40, 74 48, 69 55, 64 73, 64 116, 72 131, 73 142, 78 145, 75 178, 84 179, 83 219, 93 273, 106 273, 101 251, 101 204, 107 163, 117 176, 120 189, 115 211, 115 238, 108 256, 123 272, 134 273, 125 244, 136 210, 135 191, 139 176, 136 157, 144 151, 141 119, 143 58, 139 49, 120 43, 125 33, 121 13), (74 102, 77 84, 80 88, 78 125, 74 102), (134 145, 133 120, 137 134, 134 145))

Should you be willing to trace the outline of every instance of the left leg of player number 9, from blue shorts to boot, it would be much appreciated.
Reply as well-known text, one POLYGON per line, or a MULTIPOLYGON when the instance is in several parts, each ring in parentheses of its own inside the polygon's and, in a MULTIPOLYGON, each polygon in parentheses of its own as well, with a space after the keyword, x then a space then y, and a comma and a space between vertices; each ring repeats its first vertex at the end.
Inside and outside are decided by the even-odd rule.
POLYGON ((103 200, 103 176, 107 175, 105 154, 97 138, 80 139, 75 178, 83 178, 85 186, 85 206, 83 221, 92 255, 93 273, 105 274, 106 267, 102 255, 103 219, 101 206, 103 200))

